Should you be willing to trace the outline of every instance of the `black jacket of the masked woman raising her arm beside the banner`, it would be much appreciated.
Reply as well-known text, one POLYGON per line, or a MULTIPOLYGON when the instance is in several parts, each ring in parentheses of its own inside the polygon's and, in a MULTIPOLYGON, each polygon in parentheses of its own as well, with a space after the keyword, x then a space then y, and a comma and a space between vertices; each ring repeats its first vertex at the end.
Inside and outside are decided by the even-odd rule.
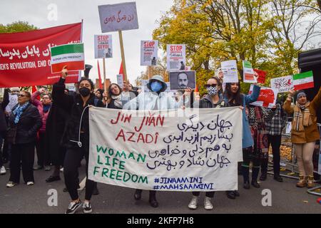
POLYGON ((79 127, 81 122, 81 142, 84 148, 89 147, 89 112, 88 105, 97 106, 103 108, 103 102, 98 100, 97 105, 95 105, 95 95, 91 93, 91 97, 87 100, 85 107, 83 107, 83 100, 81 95, 77 94, 75 96, 66 95, 65 90, 65 80, 61 78, 58 83, 54 84, 53 87, 53 97, 54 102, 63 110, 69 113, 69 118, 66 122, 66 127, 63 132, 61 139, 62 145, 67 148, 78 148, 77 142, 79 137, 79 127), (83 110, 86 110, 83 112, 83 110), (83 119, 81 121, 81 115, 83 113, 83 119), (76 142, 71 142, 76 141, 76 142))

